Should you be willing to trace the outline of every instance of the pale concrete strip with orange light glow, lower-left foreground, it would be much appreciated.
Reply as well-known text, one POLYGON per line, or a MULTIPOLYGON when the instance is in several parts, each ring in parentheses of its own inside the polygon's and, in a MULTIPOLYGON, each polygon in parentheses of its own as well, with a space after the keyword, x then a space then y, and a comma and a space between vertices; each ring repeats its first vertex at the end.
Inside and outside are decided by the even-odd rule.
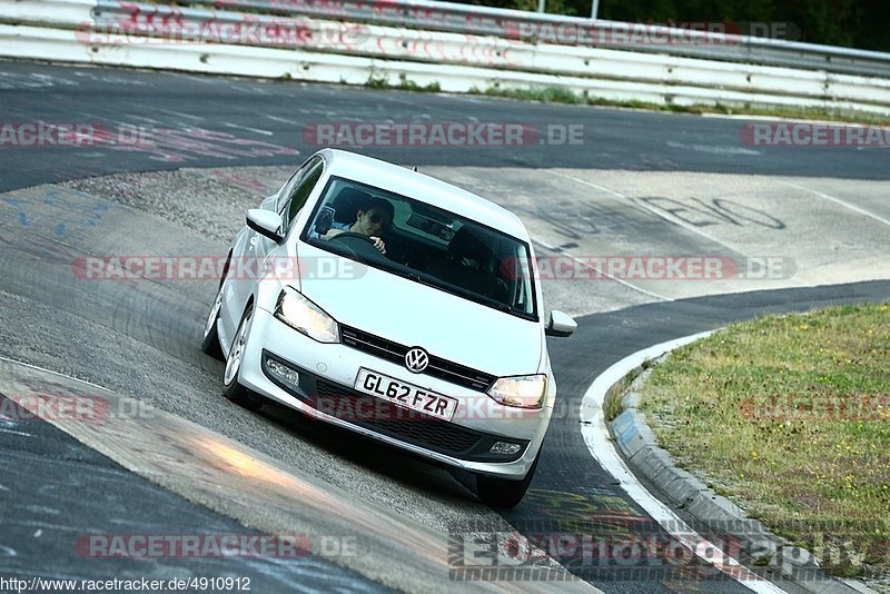
MULTIPOLYGON (((63 374, 0 357, 4 393, 22 402, 34 392, 50 397, 80 393, 83 383, 63 374)), ((89 384, 88 384, 89 385, 89 384)), ((102 390, 112 406, 128 400, 102 390)), ((27 406, 27 404, 24 404, 27 406)), ((269 534, 305 534, 313 554, 400 590, 452 592, 445 535, 392 508, 359 498, 287 467, 233 439, 156 409, 148 418, 112 416, 101 424, 48 418, 52 425, 141 476, 235 518, 257 508, 251 527, 269 534), (334 509, 336 513, 332 514, 334 509), (356 554, 338 555, 316 546, 325 535, 356 537, 356 554)), ((558 587, 544 592, 596 592, 552 570, 558 587)), ((498 584, 476 583, 501 591, 498 584)))

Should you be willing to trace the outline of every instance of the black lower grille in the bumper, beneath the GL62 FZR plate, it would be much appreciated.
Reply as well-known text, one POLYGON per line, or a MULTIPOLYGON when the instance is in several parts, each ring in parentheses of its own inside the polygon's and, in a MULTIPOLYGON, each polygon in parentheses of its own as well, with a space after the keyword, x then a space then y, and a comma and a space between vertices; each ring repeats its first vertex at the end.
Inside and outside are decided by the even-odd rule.
POLYGON ((474 449, 486 437, 483 433, 399 408, 388 402, 324 379, 317 379, 315 387, 318 397, 325 398, 327 408, 334 412, 354 412, 359 409, 357 406, 359 402, 372 399, 375 403, 372 418, 347 413, 344 420, 439 454, 462 456, 474 449))

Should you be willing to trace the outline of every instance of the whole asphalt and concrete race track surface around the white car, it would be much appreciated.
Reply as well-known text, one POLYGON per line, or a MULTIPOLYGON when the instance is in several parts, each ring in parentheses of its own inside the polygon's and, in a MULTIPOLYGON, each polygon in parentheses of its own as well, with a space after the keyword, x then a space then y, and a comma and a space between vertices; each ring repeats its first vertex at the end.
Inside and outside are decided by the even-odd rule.
MULTIPOLYGON (((259 592, 543 587, 457 583, 437 568, 461 553, 448 534, 617 544, 635 526, 664 536, 581 437, 581 396, 605 368, 733 320, 890 299, 890 161, 880 149, 749 147, 744 120, 733 118, 20 62, 0 62, 0 98, 7 122, 134 126, 151 139, 0 147, 0 406, 27 389, 101 386, 159 412, 103 427, 0 418, 3 576, 250 576, 259 592), (578 316, 580 329, 551 340, 560 403, 532 488, 516 509, 496 513, 465 476, 277 407, 251 414, 225 400, 221 363, 198 348, 212 281, 78 275, 75 263, 91 255, 224 255, 244 211, 316 150, 304 127, 332 121, 581 123, 575 145, 360 151, 514 209, 538 256, 769 257, 782 274, 545 284, 545 305, 578 316), (208 462, 222 453, 228 465, 208 462), (274 468, 274 481, 258 467, 274 468), (389 517, 413 539, 363 514, 389 517), (349 536, 348 526, 356 553, 315 546, 318 535, 349 536), (92 558, 76 546, 89 533, 308 534, 313 550, 287 561, 92 558)), ((554 590, 748 591, 709 567, 557 561, 582 582, 554 590)), ((552 578, 565 576, 545 565, 552 578)))

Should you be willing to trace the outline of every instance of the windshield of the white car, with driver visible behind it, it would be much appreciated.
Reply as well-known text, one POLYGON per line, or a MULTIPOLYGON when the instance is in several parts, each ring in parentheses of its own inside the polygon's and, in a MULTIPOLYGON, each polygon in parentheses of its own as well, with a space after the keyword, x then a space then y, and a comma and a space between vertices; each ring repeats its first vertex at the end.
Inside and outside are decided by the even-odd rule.
POLYGON ((427 202, 332 177, 301 239, 416 283, 537 320, 528 245, 427 202), (379 239, 376 246, 373 238, 379 239))

